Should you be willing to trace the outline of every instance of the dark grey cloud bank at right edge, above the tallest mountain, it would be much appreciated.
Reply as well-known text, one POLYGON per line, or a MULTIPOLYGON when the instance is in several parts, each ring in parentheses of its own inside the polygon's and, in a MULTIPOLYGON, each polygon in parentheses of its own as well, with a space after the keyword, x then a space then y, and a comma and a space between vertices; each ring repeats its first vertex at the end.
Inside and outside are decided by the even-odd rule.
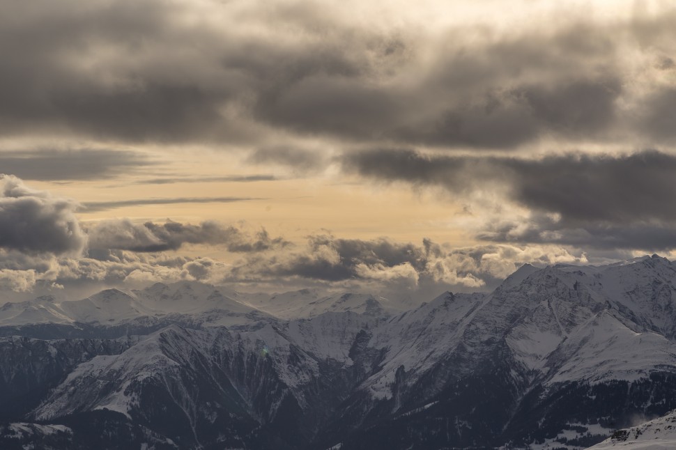
POLYGON ((525 159, 381 149, 345 155, 342 164, 346 171, 366 178, 436 185, 454 195, 498 189, 533 211, 533 219, 523 219, 528 226, 491 224, 479 233, 486 240, 676 247, 676 157, 655 150, 525 159))

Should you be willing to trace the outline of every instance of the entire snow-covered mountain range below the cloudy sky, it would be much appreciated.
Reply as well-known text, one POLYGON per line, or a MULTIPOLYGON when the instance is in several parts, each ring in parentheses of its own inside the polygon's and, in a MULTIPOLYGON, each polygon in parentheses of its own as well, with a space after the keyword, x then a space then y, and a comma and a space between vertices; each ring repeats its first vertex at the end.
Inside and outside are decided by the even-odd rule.
POLYGON ((0 307, 0 336, 2 449, 676 439, 669 415, 617 431, 676 409, 676 264, 659 256, 524 265, 492 293, 413 308, 194 282, 39 297, 0 307))

